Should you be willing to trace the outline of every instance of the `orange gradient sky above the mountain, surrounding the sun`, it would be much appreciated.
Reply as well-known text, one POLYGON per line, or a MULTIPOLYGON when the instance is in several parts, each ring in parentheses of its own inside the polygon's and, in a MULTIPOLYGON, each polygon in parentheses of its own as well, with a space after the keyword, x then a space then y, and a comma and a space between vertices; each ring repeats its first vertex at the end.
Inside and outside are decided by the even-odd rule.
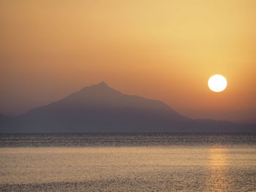
POLYGON ((255 0, 0 0, 0 113, 105 80, 190 118, 256 123, 255 20, 255 0))

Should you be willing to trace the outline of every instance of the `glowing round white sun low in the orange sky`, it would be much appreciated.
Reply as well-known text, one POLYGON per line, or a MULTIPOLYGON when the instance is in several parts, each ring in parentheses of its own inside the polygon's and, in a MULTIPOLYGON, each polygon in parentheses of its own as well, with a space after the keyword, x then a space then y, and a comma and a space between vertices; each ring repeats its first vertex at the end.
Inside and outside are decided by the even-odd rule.
POLYGON ((214 92, 224 91, 227 88, 227 80, 221 74, 214 74, 208 80, 208 87, 214 92))

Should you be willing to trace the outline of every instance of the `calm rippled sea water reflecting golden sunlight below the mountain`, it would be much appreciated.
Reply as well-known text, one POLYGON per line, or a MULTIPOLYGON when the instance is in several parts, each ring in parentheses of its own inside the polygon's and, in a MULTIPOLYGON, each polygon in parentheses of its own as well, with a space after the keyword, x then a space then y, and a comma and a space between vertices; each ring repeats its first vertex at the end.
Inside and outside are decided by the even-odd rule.
POLYGON ((256 135, 0 135, 0 191, 256 191, 256 135))

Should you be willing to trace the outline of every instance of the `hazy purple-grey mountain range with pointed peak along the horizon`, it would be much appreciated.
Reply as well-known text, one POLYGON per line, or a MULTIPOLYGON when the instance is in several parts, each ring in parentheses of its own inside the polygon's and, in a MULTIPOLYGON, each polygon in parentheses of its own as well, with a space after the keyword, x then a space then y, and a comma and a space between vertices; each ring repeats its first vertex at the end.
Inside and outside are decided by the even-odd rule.
POLYGON ((162 101, 131 96, 105 82, 1 120, 1 133, 254 132, 255 125, 192 120, 162 101))

